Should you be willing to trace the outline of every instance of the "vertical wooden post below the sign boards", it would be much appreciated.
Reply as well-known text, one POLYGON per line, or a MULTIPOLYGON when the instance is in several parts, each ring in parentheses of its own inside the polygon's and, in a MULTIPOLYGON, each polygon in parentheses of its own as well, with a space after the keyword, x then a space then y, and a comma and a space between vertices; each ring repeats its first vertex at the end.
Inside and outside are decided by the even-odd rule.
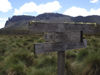
POLYGON ((65 51, 58 51, 58 75, 65 75, 65 51))

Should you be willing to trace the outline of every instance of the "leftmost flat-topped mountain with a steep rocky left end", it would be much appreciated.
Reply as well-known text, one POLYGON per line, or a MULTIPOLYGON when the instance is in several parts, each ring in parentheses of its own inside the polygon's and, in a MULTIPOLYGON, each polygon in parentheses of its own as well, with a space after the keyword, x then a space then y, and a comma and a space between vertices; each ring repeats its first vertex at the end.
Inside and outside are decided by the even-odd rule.
POLYGON ((9 29, 27 29, 28 22, 34 20, 34 16, 13 16, 12 18, 9 18, 8 21, 5 23, 4 28, 9 29))

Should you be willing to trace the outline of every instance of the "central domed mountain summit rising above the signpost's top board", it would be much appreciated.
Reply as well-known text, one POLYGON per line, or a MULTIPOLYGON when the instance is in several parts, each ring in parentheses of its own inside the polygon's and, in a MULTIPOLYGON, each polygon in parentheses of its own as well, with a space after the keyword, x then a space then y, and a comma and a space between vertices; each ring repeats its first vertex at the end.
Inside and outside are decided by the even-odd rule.
POLYGON ((44 13, 36 16, 36 21, 46 22, 71 22, 71 17, 59 13, 44 13))

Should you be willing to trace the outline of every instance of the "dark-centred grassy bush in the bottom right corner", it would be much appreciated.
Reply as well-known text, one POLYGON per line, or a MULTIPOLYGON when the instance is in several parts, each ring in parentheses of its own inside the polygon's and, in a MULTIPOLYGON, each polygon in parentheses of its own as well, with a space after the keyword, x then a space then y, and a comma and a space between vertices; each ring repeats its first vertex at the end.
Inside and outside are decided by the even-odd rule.
POLYGON ((100 74, 100 55, 99 53, 90 54, 85 59, 85 66, 82 75, 100 74))

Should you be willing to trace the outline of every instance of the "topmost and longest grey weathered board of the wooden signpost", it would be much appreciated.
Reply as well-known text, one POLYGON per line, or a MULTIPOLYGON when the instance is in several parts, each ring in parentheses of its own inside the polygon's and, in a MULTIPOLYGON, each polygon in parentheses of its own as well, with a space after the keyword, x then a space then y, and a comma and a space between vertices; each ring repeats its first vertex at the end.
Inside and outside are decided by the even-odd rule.
POLYGON ((94 24, 46 23, 46 22, 33 22, 29 24, 28 27, 29 31, 34 33, 66 32, 66 31, 93 32, 95 29, 94 24))

